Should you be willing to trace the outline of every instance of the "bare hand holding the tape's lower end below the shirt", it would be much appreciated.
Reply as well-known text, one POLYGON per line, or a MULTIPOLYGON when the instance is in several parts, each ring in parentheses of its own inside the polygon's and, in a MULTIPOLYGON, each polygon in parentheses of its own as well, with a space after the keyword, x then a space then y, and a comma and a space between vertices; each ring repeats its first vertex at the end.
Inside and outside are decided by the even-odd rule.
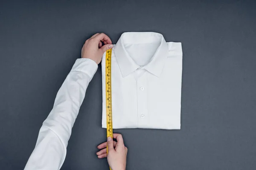
POLYGON ((111 137, 108 137, 108 142, 99 144, 98 149, 101 149, 96 154, 98 158, 108 159, 108 164, 112 170, 125 170, 126 167, 126 155, 127 147, 125 147, 122 135, 119 133, 113 133, 113 138, 117 142, 113 141, 111 137), (107 155, 107 144, 108 144, 108 155, 107 155))

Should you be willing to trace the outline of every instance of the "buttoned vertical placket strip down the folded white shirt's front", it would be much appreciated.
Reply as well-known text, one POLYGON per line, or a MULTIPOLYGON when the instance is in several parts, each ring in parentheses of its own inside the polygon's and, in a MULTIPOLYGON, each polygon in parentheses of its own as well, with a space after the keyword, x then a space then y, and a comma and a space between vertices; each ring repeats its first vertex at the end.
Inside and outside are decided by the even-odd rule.
POLYGON ((148 120, 148 86, 145 70, 137 70, 137 122, 139 128, 145 128, 148 120))

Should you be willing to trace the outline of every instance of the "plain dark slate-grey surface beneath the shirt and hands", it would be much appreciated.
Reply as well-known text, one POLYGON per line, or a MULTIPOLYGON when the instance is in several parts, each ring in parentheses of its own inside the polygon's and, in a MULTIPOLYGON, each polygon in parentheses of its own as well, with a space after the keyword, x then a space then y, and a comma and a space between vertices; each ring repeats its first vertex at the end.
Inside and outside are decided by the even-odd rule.
MULTIPOLYGON (((182 42, 181 130, 124 129, 127 170, 256 169, 256 1, 0 1, 0 169, 23 169, 84 41, 155 31, 182 42)), ((107 170, 99 65, 61 170, 107 170)))

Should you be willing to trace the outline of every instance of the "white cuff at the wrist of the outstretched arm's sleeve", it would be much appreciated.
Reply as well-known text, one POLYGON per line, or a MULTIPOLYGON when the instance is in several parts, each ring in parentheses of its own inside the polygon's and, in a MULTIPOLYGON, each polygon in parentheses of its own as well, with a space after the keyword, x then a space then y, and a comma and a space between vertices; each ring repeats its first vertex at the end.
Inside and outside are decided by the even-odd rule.
POLYGON ((81 58, 76 59, 75 64, 73 65, 71 71, 81 71, 87 74, 90 79, 96 73, 98 65, 92 59, 81 58))

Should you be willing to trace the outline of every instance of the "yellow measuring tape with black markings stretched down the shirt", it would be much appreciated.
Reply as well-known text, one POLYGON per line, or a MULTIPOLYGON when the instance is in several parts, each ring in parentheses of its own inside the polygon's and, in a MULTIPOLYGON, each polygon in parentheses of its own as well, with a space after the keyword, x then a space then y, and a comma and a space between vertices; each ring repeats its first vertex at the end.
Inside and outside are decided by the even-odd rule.
MULTIPOLYGON (((112 122, 112 94, 111 94, 111 55, 112 49, 106 51, 105 80, 106 80, 106 118, 107 118, 107 138, 113 139, 113 122, 112 122)), ((108 145, 107 145, 108 154, 108 145)), ((111 167, 109 167, 111 170, 111 167)))

